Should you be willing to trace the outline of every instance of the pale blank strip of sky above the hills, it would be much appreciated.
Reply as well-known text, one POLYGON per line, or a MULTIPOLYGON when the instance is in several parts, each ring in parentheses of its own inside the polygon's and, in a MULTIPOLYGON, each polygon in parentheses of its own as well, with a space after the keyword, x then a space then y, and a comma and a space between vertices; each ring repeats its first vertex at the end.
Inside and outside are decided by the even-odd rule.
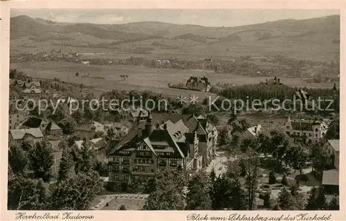
POLYGON ((339 10, 233 9, 12 9, 11 17, 28 15, 57 22, 125 24, 161 21, 200 26, 242 26, 280 19, 309 19, 340 15, 339 10))

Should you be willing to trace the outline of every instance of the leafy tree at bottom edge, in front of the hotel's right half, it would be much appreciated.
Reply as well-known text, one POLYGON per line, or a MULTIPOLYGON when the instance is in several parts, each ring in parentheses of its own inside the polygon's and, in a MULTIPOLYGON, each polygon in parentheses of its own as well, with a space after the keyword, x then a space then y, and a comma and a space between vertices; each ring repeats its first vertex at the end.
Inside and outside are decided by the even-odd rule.
POLYGON ((185 178, 165 170, 155 175, 156 188, 149 194, 144 210, 183 210, 185 209, 185 178))

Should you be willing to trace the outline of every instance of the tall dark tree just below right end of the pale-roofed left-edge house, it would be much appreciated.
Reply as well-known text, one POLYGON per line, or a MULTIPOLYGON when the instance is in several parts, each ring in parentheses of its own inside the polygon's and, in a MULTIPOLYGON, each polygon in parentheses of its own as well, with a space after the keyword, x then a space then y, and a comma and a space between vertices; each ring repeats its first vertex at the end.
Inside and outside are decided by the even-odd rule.
POLYGON ((34 171, 35 178, 42 178, 44 182, 51 179, 51 167, 53 166, 53 156, 46 141, 35 143, 28 152, 30 168, 34 171))

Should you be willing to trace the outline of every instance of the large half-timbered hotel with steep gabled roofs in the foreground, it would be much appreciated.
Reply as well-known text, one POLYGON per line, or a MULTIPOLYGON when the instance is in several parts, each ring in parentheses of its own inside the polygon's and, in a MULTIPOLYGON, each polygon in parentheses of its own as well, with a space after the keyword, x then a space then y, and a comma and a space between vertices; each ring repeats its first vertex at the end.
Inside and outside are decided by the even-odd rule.
POLYGON ((109 149, 109 183, 147 184, 156 171, 170 168, 190 175, 215 159, 217 130, 204 118, 151 114, 138 121, 109 149))

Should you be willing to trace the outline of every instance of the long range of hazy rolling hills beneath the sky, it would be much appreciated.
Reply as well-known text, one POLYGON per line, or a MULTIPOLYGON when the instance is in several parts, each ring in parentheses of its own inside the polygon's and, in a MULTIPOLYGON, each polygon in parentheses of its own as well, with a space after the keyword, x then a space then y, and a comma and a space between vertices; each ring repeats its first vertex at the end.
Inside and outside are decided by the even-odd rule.
POLYGON ((283 19, 237 27, 204 27, 143 21, 129 24, 69 24, 10 19, 10 39, 17 51, 24 45, 46 47, 64 39, 66 46, 154 47, 154 53, 192 53, 207 58, 230 55, 273 55, 335 60, 340 51, 340 16, 283 19))

